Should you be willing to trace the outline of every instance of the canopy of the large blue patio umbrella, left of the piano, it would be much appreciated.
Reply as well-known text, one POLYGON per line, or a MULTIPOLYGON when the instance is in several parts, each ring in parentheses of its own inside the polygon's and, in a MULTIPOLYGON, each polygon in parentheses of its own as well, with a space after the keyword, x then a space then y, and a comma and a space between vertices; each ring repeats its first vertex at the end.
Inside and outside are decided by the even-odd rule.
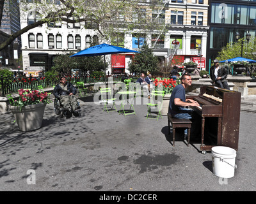
POLYGON ((129 50, 122 47, 116 47, 113 45, 108 44, 100 44, 93 47, 89 47, 85 50, 81 50, 80 52, 77 52, 76 54, 70 56, 70 57, 90 57, 90 56, 97 56, 97 55, 110 55, 110 54, 118 54, 118 53, 125 53, 125 52, 135 52, 139 53, 135 50, 129 50))

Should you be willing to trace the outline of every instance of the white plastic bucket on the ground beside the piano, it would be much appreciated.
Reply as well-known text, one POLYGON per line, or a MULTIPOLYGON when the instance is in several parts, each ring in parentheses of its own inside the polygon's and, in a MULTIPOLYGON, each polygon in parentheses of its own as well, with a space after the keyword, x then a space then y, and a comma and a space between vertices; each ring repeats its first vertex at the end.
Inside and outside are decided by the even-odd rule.
POLYGON ((212 147, 212 171, 221 178, 232 178, 236 168, 236 150, 230 147, 212 147))

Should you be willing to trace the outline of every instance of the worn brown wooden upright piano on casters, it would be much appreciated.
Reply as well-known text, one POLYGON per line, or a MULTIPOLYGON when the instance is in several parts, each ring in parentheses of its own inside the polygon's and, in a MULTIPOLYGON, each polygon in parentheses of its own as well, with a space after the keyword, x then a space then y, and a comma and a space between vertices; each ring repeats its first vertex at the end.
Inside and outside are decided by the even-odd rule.
POLYGON ((200 150, 226 146, 238 149, 241 92, 229 91, 214 86, 200 87, 198 96, 188 96, 200 106, 193 106, 202 116, 200 150))

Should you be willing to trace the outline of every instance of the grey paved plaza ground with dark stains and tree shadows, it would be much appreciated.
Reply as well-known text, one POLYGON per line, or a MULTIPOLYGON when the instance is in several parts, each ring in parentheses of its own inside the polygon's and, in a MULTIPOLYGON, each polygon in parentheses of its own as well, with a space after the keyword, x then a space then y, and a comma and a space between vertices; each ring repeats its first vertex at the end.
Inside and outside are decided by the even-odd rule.
POLYGON ((220 180, 198 143, 177 138, 172 147, 166 116, 146 119, 147 106, 134 105, 136 115, 125 117, 103 112, 92 97, 79 101, 81 117, 60 118, 50 103, 42 128, 31 132, 1 113, 0 191, 256 190, 255 113, 241 112, 235 176, 220 180))

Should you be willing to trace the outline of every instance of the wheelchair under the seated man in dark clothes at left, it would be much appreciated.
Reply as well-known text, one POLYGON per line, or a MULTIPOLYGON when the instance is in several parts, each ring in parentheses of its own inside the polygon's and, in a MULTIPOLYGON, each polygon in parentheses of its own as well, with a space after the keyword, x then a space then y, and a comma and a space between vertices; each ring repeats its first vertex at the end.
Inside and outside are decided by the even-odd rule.
MULTIPOLYGON (((78 102, 79 104, 79 102, 78 102)), ((60 117, 66 117, 66 118, 70 118, 72 117, 72 114, 75 117, 81 116, 81 109, 74 111, 72 106, 70 106, 71 110, 65 110, 63 108, 63 105, 61 105, 60 103, 60 99, 58 98, 54 98, 54 111, 56 113, 56 115, 60 115, 60 117)))

